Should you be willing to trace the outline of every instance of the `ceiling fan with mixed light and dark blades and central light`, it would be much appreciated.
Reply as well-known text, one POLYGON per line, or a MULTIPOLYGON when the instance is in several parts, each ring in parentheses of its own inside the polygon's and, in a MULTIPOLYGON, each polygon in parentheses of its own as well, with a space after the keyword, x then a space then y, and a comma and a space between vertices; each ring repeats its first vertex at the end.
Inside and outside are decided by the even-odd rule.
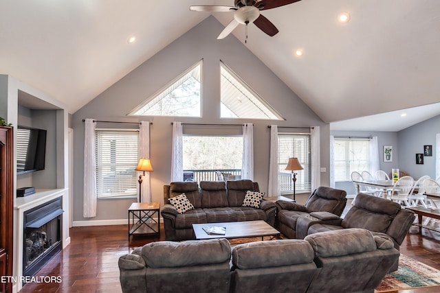
POLYGON ((278 29, 269 19, 260 14, 260 11, 277 8, 298 1, 300 0, 234 0, 234 6, 197 5, 190 6, 190 10, 202 12, 234 12, 234 19, 226 25, 217 39, 228 36, 239 24, 247 26, 249 23, 254 23, 254 25, 269 36, 274 36, 278 33, 278 29))

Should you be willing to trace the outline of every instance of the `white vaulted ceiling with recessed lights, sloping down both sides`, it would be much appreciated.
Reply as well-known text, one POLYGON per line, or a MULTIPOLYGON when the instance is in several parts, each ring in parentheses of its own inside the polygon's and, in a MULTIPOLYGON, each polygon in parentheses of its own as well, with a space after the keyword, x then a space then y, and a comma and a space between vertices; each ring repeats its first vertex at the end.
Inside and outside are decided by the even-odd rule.
MULTIPOLYGON (((0 73, 45 91, 74 113, 210 16, 190 5, 234 1, 0 1, 0 73), (134 43, 127 41, 131 36, 134 43)), ((440 114, 439 0, 302 0, 261 13, 278 34, 267 36, 250 24, 246 43, 244 25, 228 38, 241 40, 323 121, 382 113, 369 128, 374 121, 387 124, 380 130, 400 130, 440 114), (349 22, 338 21, 342 12, 349 22), (406 120, 389 113, 404 109, 406 120)), ((223 25, 233 17, 212 15, 223 25)))

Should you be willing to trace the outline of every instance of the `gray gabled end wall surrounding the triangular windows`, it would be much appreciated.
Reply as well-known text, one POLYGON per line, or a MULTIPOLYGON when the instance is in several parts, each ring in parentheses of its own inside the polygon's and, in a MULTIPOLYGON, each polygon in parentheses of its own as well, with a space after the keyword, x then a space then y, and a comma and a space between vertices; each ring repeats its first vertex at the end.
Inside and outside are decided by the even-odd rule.
MULTIPOLYGON (((84 124, 82 119, 93 118, 105 121, 153 121, 151 126, 150 157, 154 172, 151 173, 153 201, 163 204, 163 185, 170 182, 171 134, 170 122, 204 124, 254 123, 254 180, 267 191, 270 153, 270 124, 278 126, 321 126, 321 165, 329 169, 329 126, 303 103, 270 69, 254 56, 234 36, 217 40, 223 25, 210 16, 146 60, 120 81, 98 95, 89 104, 72 115, 74 128, 74 221, 121 220, 127 217, 127 208, 136 199, 98 200, 96 218, 83 218, 83 150, 84 124), (202 118, 181 117, 128 117, 133 108, 162 89, 196 62, 203 58, 202 69, 202 118), (222 60, 254 91, 259 93, 286 121, 220 119, 219 91, 222 60)), ((98 124, 102 127, 102 124, 98 124)), ((112 124, 112 128, 120 125, 112 124)), ((208 127, 210 128, 210 127, 208 127)), ((211 127, 212 128, 212 127, 211 127)), ((215 130, 223 131, 222 126, 215 130)), ((226 130, 225 130, 226 131, 226 130)), ((329 184, 328 172, 321 174, 322 185, 329 184)), ((85 222, 80 223, 85 224, 85 222)))

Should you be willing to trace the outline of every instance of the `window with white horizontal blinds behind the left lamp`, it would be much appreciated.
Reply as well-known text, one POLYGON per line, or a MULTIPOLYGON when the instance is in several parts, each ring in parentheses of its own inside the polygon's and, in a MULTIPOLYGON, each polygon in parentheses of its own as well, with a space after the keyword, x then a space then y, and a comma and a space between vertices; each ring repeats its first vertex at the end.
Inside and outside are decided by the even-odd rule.
POLYGON ((135 130, 96 131, 98 198, 137 196, 137 137, 135 130))

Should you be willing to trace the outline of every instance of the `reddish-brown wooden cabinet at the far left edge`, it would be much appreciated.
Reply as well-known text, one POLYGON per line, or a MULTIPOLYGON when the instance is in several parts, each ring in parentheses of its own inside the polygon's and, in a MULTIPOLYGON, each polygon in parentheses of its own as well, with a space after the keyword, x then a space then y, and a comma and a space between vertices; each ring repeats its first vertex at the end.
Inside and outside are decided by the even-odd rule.
MULTIPOLYGON (((14 208, 12 145, 12 128, 0 126, 0 274, 7 277, 12 276, 14 208)), ((0 292, 12 292, 12 283, 0 283, 0 292)))

